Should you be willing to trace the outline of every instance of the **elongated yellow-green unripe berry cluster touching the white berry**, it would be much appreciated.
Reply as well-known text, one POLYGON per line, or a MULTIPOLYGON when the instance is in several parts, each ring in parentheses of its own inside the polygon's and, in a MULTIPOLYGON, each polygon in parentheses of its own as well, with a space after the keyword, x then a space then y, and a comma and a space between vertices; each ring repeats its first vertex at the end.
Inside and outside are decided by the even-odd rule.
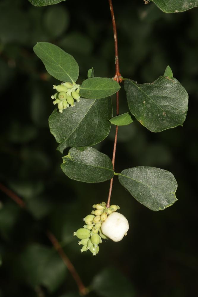
POLYGON ((74 232, 74 235, 81 239, 81 241, 78 242, 79 245, 83 245, 80 251, 85 252, 89 249, 93 256, 95 256, 99 252, 98 245, 102 242, 102 238, 108 239, 108 237, 102 233, 102 223, 107 219, 109 214, 115 212, 120 207, 118 205, 111 205, 107 208, 106 203, 102 202, 94 204, 93 208, 95 208, 95 210, 83 219, 86 225, 74 232))

